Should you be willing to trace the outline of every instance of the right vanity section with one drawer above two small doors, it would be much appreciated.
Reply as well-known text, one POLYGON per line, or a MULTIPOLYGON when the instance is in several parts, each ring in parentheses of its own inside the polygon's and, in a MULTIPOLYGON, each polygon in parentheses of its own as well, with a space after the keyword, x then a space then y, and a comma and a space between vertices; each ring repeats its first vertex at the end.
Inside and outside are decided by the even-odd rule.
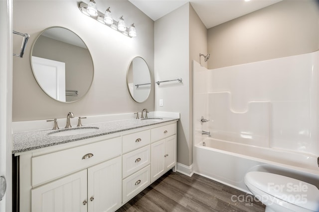
POLYGON ((151 130, 151 182, 176 165, 176 124, 151 130))

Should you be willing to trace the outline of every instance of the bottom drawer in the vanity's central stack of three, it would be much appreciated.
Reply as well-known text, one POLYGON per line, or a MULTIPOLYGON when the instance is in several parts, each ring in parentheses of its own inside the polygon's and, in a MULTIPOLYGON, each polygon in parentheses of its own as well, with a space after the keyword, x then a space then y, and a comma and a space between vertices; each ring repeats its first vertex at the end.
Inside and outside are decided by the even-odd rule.
POLYGON ((123 180, 123 203, 127 202, 150 185, 150 172, 151 166, 148 165, 123 180))

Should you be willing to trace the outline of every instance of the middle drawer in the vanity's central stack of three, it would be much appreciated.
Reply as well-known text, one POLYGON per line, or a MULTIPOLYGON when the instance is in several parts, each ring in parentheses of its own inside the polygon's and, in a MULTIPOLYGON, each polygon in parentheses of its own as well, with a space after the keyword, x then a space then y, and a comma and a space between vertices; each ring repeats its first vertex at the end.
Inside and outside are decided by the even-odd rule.
POLYGON ((151 147, 144 146, 123 155, 123 178, 151 163, 151 147))

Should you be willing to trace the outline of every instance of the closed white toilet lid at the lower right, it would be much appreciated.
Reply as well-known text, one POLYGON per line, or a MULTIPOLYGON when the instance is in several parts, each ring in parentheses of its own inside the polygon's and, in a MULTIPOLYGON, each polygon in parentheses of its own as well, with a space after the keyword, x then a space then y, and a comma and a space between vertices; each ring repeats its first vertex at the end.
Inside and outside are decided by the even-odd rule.
POLYGON ((248 172, 245 180, 278 199, 312 211, 319 211, 319 189, 310 183, 259 171, 248 172))

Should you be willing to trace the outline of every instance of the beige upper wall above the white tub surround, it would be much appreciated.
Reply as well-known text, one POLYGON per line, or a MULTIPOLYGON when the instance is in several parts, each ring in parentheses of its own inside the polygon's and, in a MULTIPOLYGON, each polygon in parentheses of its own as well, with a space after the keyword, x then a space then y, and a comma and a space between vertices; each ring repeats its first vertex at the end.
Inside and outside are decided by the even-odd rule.
POLYGON ((208 29, 208 68, 317 51, 319 2, 283 0, 208 29))

